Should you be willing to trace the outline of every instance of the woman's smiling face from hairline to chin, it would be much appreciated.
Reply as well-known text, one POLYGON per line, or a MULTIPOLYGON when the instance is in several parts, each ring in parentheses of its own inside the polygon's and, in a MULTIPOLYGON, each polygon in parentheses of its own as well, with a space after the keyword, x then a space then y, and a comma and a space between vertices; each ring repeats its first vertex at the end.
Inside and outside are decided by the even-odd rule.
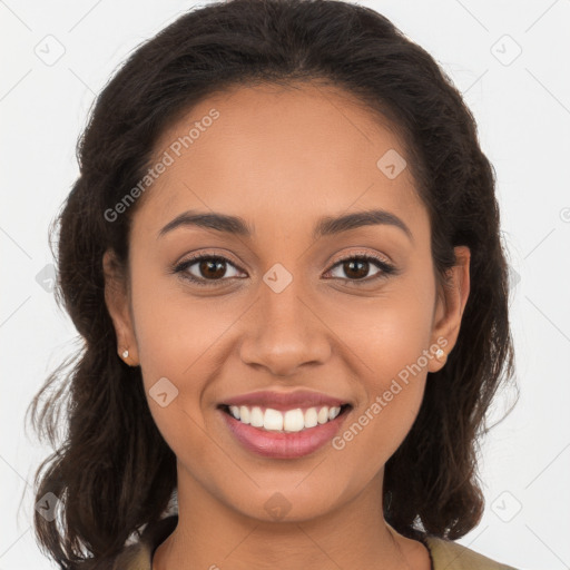
MULTIPOLYGON (((264 86, 208 98, 156 149, 169 164, 134 215, 130 287, 109 286, 107 304, 177 455, 179 488, 263 520, 275 502, 303 520, 377 488, 469 291, 469 253, 458 248, 448 304, 438 295, 430 220, 400 140, 343 91, 264 86), (323 224, 370 210, 383 214, 323 224), (242 232, 184 213, 238 217, 242 232), (264 430, 220 409, 302 390, 343 406, 332 422, 279 432, 296 446, 263 439, 283 414, 269 412, 277 424, 264 430)), ((265 420, 266 407, 299 407, 274 397, 259 405, 265 420)), ((307 402, 305 420, 324 407, 307 402)))

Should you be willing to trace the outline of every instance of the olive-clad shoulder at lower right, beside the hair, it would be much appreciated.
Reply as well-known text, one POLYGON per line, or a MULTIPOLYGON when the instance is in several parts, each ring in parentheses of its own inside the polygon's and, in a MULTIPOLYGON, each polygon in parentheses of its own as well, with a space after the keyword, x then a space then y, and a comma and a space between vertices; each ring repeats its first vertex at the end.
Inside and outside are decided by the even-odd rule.
POLYGON ((426 535, 433 570, 517 570, 451 540, 426 535))

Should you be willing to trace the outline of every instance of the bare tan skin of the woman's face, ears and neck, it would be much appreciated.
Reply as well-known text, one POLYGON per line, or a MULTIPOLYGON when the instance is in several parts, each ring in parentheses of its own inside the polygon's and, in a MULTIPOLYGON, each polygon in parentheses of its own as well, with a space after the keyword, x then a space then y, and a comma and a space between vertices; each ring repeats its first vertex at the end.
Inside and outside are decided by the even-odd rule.
MULTIPOLYGON (((428 210, 410 168, 389 179, 376 167, 389 149, 405 156, 403 147, 348 94, 316 85, 217 94, 163 134, 157 157, 213 107, 220 117, 134 215, 130 287, 112 272, 112 252, 104 257, 117 350, 128 347, 127 362, 141 366, 150 412, 177 456, 179 522, 153 569, 429 569, 425 547, 384 521, 381 490, 426 374, 444 361, 430 358, 344 449, 324 445, 301 459, 245 450, 216 406, 252 391, 308 389, 351 402, 351 425, 438 338, 448 354, 453 348, 469 295, 469 249, 455 249, 450 286, 439 289, 428 210), (399 216, 413 239, 392 225, 311 236, 323 215, 371 208, 399 216), (240 216, 255 234, 188 226, 157 238, 188 209, 240 216), (379 268, 371 263, 363 283, 337 264, 363 252, 400 273, 373 281, 379 268), (226 273, 209 287, 169 273, 190 253, 227 257, 226 273), (293 276, 278 294, 263 281, 276 263, 293 276), (178 390, 166 407, 148 395, 161 377, 178 390), (291 507, 279 520, 265 508, 274 493, 291 507)), ((199 264, 186 272, 208 277, 199 264)))

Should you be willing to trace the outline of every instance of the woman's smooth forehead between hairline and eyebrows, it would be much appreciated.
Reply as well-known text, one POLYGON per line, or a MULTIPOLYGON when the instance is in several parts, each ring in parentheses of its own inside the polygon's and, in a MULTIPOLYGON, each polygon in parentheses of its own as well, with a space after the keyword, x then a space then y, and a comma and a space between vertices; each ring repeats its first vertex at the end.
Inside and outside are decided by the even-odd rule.
POLYGON ((410 168, 396 177, 382 169, 394 157, 401 168, 404 155, 390 122, 342 89, 234 87, 200 101, 159 137, 155 161, 168 156, 168 166, 136 218, 151 229, 200 208, 269 223, 269 213, 298 220, 354 205, 411 220, 422 206, 410 168))

